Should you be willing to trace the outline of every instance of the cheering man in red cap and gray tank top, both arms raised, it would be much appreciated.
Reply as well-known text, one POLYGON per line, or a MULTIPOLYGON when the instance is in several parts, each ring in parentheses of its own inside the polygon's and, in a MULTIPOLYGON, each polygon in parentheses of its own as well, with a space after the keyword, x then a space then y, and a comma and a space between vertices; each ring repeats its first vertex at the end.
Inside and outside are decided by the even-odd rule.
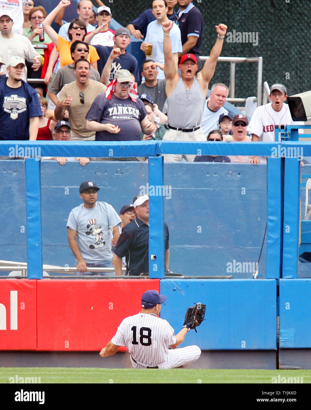
MULTIPOLYGON (((162 23, 165 91, 169 119, 169 129, 165 133, 163 141, 206 141, 201 128, 205 98, 223 48, 227 26, 225 24, 215 26, 218 34, 216 43, 210 52, 210 57, 205 61, 202 71, 196 74, 198 64, 195 55, 184 54, 178 65, 180 75, 171 51, 170 31, 173 24, 171 21, 162 23), (181 113, 182 115, 180 115, 181 113)), ((184 157, 187 161, 193 161, 195 155, 184 155, 184 157)), ((167 162, 178 162, 183 159, 183 155, 166 154, 164 159, 167 162)))

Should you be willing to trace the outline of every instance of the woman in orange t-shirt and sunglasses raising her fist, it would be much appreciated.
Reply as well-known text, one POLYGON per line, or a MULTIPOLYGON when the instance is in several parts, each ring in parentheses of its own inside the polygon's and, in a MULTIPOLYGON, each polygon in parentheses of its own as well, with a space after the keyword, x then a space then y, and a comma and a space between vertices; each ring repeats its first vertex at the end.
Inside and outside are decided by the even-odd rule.
MULTIPOLYGON (((71 21, 68 27, 68 37, 70 41, 65 40, 62 36, 59 36, 56 31, 51 27, 51 24, 56 17, 56 14, 63 8, 70 5, 69 0, 61 0, 59 4, 51 11, 50 14, 43 20, 43 28, 47 32, 48 36, 54 41, 56 44, 56 50, 59 52, 60 63, 61 67, 71 64, 72 58, 70 54, 70 46, 71 44, 76 41, 80 40, 83 41, 84 37, 86 36, 86 24, 75 18, 71 21)), ((97 70, 97 60, 99 60, 99 56, 97 51, 93 46, 89 46, 89 53, 88 53, 88 61, 90 62, 91 66, 97 70)))

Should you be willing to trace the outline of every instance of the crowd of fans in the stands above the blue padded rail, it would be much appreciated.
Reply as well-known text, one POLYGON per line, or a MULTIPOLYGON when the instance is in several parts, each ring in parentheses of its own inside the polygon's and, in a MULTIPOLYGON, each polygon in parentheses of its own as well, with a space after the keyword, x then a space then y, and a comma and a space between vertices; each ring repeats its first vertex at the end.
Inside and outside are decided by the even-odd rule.
MULTIPOLYGON (((252 135, 254 141, 273 141, 275 124, 291 124, 282 84, 270 89, 270 112, 259 118, 255 111, 250 124, 244 114, 233 117, 223 107, 225 84, 214 84, 207 98, 227 26, 215 26, 216 42, 203 65, 203 18, 192 0, 151 0, 151 9, 116 31, 109 27, 112 10, 101 0, 80 0, 70 22, 63 20, 70 0, 50 14, 35 1, 0 12, 0 140, 55 139, 61 120, 78 141, 236 142, 252 135), (142 40, 141 69, 127 50, 131 35, 142 40), (27 78, 37 81, 27 84, 27 78)), ((185 159, 260 162, 247 156, 185 159)))

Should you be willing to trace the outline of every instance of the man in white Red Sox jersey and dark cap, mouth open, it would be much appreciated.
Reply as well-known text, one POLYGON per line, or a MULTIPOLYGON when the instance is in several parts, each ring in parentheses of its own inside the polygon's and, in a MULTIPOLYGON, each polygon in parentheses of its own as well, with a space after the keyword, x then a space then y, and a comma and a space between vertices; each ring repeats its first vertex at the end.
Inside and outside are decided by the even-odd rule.
MULTIPOLYGON (((273 142, 275 125, 304 125, 303 122, 292 120, 288 105, 284 104, 287 91, 283 84, 273 84, 270 87, 269 98, 271 103, 257 107, 248 125, 247 131, 252 134, 252 141, 273 142)), ((254 155, 251 162, 259 164, 264 161, 254 155)))

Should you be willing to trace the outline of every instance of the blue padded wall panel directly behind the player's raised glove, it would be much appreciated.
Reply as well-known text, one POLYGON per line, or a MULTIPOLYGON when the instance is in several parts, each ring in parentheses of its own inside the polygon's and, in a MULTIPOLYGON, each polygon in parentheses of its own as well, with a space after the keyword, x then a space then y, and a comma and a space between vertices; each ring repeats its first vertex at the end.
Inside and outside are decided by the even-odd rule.
POLYGON ((273 279, 163 279, 160 293, 167 296, 167 301, 161 317, 178 329, 185 318, 180 306, 206 303, 203 325, 198 333, 189 332, 183 346, 199 344, 203 350, 276 350, 276 286, 273 279))

